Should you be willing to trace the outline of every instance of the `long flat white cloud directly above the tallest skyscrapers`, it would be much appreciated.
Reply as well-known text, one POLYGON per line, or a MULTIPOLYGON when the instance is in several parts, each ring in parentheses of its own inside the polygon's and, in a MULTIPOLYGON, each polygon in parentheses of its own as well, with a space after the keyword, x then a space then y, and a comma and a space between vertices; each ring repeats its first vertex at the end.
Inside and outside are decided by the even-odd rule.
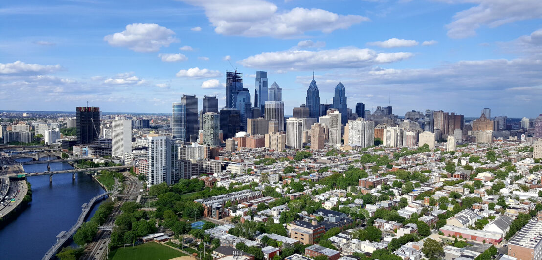
POLYGON ((285 50, 247 57, 240 63, 247 68, 312 70, 334 68, 362 68, 379 63, 408 59, 411 53, 377 53, 371 49, 344 48, 333 50, 285 50))

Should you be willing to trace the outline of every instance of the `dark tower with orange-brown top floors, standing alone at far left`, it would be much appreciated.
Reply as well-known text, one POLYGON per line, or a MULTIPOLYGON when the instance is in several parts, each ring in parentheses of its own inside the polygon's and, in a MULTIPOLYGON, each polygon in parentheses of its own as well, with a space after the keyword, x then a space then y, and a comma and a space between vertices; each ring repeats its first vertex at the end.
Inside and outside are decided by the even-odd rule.
POLYGON ((76 107, 77 144, 90 144, 100 137, 100 108, 76 107))

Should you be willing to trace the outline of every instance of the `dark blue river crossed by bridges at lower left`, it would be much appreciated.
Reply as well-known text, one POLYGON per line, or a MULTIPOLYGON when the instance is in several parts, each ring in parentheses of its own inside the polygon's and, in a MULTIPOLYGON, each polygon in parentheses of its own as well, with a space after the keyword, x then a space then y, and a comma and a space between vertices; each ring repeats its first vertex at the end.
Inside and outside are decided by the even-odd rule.
MULTIPOLYGON (((40 160, 47 160, 43 158, 40 160)), ((28 161, 21 158, 17 161, 28 161)), ((23 165, 25 172, 47 171, 47 163, 23 165)), ((52 163, 51 171, 67 170, 73 167, 68 163, 52 163)), ((104 192, 95 180, 84 173, 29 177, 32 185, 32 202, 16 219, 0 229, 1 259, 41 259, 56 242, 56 235, 69 230, 81 214, 81 206, 94 196, 104 192)), ((98 209, 94 206, 89 217, 98 209)))

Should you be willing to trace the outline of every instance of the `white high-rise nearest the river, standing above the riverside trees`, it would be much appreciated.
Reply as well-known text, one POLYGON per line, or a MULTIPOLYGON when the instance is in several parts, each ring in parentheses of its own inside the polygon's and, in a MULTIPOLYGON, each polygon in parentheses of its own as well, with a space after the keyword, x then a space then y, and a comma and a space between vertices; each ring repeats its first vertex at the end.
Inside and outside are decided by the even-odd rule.
POLYGON ((166 173, 168 172, 166 142, 165 136, 147 135, 147 148, 149 148, 149 159, 146 161, 147 186, 158 185, 166 181, 166 173))

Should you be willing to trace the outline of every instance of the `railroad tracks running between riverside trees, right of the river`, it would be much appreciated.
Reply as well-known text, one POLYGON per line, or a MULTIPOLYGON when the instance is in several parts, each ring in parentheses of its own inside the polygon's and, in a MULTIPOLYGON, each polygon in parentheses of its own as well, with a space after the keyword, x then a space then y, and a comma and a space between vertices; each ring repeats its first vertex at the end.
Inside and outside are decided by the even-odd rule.
MULTIPOLYGON (((130 180, 130 184, 128 185, 128 188, 126 190, 126 194, 133 194, 137 192, 137 181, 138 179, 133 177, 130 174, 124 174, 126 178, 130 180)), ((117 216, 121 213, 120 208, 122 205, 129 201, 130 197, 118 197, 118 204, 113 209, 113 212, 109 214, 109 217, 104 224, 105 226, 114 226, 115 219, 117 216)), ((109 230, 100 230, 98 231, 98 234, 96 234, 95 241, 91 244, 87 245, 88 251, 85 250, 85 253, 81 256, 80 259, 83 260, 91 260, 91 259, 104 259, 105 253, 107 251, 107 246, 109 245, 109 242, 111 241, 111 231, 109 230)))

